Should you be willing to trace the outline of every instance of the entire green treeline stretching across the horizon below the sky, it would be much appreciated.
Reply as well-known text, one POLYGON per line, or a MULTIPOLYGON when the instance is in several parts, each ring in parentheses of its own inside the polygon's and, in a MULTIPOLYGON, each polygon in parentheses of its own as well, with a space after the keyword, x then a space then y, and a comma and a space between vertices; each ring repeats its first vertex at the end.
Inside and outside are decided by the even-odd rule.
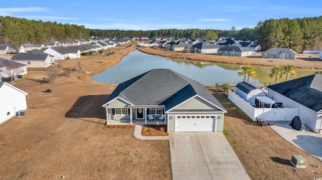
POLYGON ((0 17, 0 43, 41 44, 55 40, 86 39, 97 37, 161 37, 161 38, 201 38, 218 37, 251 40, 261 45, 263 50, 270 48, 290 48, 297 52, 322 49, 322 16, 303 19, 279 19, 259 22, 255 28, 235 30, 200 29, 160 29, 151 31, 98 30, 84 26, 57 24, 56 22, 29 21, 14 17, 0 17))

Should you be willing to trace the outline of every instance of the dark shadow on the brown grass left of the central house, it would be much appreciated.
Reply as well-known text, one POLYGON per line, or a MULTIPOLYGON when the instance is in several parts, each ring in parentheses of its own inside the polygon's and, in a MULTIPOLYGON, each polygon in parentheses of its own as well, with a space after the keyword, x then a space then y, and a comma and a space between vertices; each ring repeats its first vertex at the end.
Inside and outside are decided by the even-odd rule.
POLYGON ((67 118, 100 118, 106 119, 106 110, 102 105, 109 97, 104 95, 88 95, 79 97, 72 107, 66 112, 67 118))

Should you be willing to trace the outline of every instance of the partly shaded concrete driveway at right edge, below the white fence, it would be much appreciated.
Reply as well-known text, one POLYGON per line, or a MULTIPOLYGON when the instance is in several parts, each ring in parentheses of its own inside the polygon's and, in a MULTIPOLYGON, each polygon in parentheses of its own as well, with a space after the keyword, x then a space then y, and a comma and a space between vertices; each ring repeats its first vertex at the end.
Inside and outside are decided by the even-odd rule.
POLYGON ((270 126, 280 136, 322 160, 322 134, 309 131, 305 126, 305 131, 293 129, 289 124, 291 121, 274 121, 274 125, 270 126))

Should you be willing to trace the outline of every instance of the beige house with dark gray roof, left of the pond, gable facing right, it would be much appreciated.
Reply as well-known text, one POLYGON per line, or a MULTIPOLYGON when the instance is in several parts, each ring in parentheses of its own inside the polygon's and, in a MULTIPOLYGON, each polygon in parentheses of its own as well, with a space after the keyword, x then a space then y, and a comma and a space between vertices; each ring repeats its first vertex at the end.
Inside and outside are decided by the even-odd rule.
POLYGON ((19 53, 11 58, 11 61, 27 65, 27 68, 47 68, 55 63, 53 57, 40 50, 19 53))

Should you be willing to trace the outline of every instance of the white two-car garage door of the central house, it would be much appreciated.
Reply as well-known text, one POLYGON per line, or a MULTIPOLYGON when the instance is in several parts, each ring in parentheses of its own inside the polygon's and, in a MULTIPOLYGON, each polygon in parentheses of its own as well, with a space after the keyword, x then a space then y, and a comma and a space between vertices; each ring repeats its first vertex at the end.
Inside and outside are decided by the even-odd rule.
POLYGON ((217 116, 200 115, 182 115, 176 116, 176 132, 206 132, 215 131, 217 116))

